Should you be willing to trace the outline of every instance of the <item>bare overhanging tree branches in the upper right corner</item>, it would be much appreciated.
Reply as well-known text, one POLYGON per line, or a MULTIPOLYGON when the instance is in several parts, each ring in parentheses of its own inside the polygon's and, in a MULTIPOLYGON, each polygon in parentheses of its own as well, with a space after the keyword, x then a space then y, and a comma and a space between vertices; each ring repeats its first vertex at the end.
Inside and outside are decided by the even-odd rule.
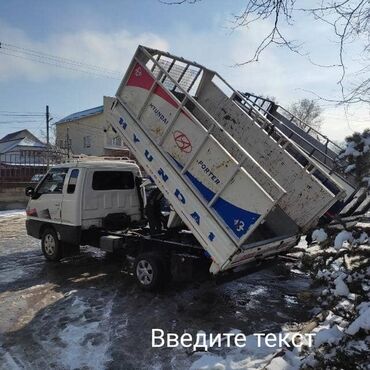
MULTIPOLYGON (((195 4, 201 0, 160 1, 165 4, 195 4)), ((257 21, 267 23, 269 25, 268 31, 265 35, 261 35, 261 40, 253 56, 237 65, 258 61, 263 52, 273 45, 284 47, 308 58, 314 65, 339 69, 340 74, 337 82, 340 86, 341 98, 320 98, 342 104, 364 102, 370 104, 369 0, 319 0, 317 2, 312 0, 245 0, 244 9, 239 14, 233 14, 232 28, 252 27, 257 21), (316 4, 318 5, 316 6, 316 4), (337 41, 337 63, 325 65, 312 60, 309 51, 303 49, 301 42, 292 40, 286 35, 286 26, 294 26, 297 17, 301 14, 309 14, 312 16, 312 21, 323 22, 331 27, 332 34, 337 41), (361 48, 358 57, 362 59, 363 67, 354 73, 353 78, 349 78, 345 50, 348 45, 354 43, 361 48)))

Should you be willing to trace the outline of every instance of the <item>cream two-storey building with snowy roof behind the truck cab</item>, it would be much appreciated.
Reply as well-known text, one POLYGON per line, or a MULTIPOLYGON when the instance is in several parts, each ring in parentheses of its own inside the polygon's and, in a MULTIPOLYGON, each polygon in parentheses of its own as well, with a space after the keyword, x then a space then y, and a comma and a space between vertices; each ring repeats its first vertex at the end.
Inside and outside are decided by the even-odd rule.
POLYGON ((56 145, 75 155, 129 156, 121 136, 106 119, 113 100, 104 96, 103 105, 70 114, 56 122, 56 145))

